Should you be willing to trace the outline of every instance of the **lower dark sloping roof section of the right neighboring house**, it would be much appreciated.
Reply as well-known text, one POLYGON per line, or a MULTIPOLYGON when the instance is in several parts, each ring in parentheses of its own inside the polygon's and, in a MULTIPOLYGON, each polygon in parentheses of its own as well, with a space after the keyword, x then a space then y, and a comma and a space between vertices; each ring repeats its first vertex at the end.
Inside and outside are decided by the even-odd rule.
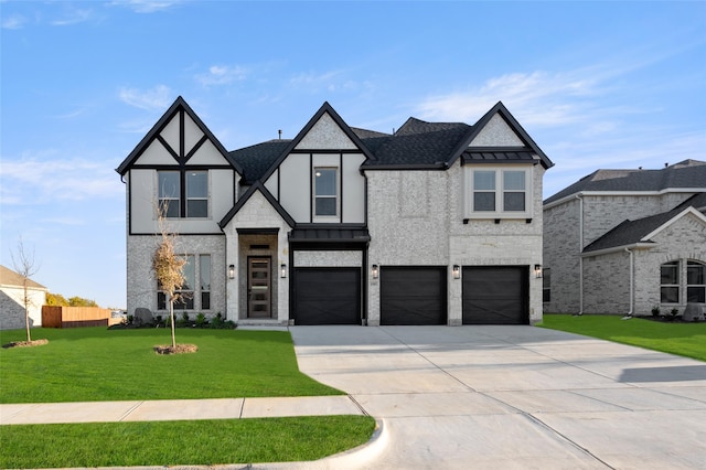
POLYGON ((617 227, 607 232, 600 238, 596 239, 593 243, 589 244, 584 248, 584 253, 634 245, 639 242, 650 243, 651 241, 645 241, 643 238, 663 224, 670 222, 673 217, 689 206, 697 211, 706 207, 706 192, 693 195, 671 211, 651 215, 649 217, 638 218, 637 221, 624 221, 617 227))

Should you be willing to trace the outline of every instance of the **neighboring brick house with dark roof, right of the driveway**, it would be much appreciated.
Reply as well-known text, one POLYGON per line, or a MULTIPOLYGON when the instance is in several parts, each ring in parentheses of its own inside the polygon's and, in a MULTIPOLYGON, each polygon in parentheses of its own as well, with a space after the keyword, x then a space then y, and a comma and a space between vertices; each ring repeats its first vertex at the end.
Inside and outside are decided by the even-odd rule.
POLYGON ((544 310, 706 302, 706 162, 598 170, 544 202, 544 310))

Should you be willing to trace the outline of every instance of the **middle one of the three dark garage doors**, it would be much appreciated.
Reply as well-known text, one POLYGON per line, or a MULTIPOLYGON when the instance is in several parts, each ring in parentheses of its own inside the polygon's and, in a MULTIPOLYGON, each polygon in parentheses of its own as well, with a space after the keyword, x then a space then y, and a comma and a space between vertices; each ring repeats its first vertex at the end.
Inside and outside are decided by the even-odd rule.
POLYGON ((381 267, 381 324, 446 324, 447 268, 381 267))

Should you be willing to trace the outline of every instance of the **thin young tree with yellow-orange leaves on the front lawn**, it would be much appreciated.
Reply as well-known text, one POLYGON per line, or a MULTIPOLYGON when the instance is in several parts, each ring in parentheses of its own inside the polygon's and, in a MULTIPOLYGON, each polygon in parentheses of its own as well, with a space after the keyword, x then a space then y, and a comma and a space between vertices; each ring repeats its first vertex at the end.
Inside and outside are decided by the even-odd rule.
POLYGON ((174 333, 174 302, 181 298, 179 290, 184 285, 184 265, 186 259, 174 253, 176 235, 170 233, 167 227, 167 207, 158 207, 158 223, 161 241, 152 255, 152 269, 160 286, 160 290, 167 296, 169 302, 169 318, 172 328, 172 348, 176 348, 174 333))

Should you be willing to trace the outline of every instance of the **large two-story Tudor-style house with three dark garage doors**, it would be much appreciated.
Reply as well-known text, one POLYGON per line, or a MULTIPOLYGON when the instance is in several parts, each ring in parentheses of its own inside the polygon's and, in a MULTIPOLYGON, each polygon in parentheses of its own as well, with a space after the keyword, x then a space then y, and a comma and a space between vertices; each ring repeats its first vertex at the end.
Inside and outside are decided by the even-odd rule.
POLYGON ((186 258, 178 307, 240 324, 542 319, 552 161, 502 103, 473 126, 350 127, 328 104, 291 140, 228 151, 179 97, 116 170, 127 305, 164 314, 160 204, 186 258))

